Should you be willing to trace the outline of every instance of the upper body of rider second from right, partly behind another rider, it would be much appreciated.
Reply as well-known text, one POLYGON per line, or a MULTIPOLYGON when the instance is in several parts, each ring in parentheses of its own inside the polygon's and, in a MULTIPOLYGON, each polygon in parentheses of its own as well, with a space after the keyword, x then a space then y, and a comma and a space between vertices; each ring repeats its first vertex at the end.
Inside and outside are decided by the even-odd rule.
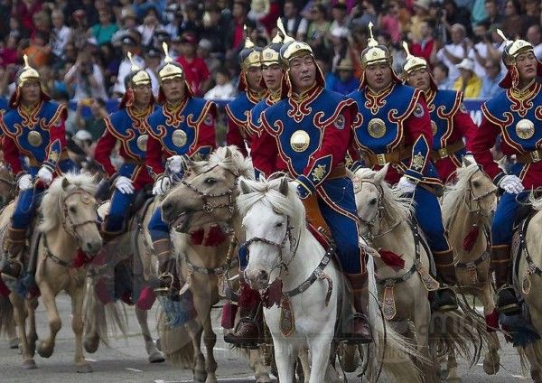
POLYGON ((463 156, 469 150, 477 126, 463 104, 463 93, 438 89, 427 61, 410 54, 406 42, 403 42, 403 48, 406 51, 403 65, 406 84, 424 92, 431 115, 431 158, 441 182, 453 181, 455 170, 462 166, 463 156))

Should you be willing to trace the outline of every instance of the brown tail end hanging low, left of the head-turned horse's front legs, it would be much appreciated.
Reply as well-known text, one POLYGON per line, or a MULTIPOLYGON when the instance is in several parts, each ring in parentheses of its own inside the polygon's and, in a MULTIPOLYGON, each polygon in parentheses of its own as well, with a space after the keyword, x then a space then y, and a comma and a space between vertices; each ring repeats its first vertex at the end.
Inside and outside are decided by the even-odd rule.
POLYGON ((188 322, 179 327, 171 327, 167 324, 164 311, 158 316, 158 335, 160 336, 160 350, 165 359, 182 369, 192 369, 194 364, 194 348, 187 326, 188 322))

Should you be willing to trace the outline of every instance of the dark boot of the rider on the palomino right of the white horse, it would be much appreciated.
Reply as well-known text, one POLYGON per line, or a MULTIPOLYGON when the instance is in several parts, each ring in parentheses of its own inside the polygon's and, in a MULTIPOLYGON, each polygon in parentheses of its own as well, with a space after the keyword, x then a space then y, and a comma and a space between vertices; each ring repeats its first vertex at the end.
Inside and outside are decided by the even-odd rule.
POLYGON ((431 309, 435 312, 447 312, 457 310, 457 296, 449 285, 456 285, 455 266, 453 265, 453 250, 434 251, 437 278, 444 283, 438 290, 433 292, 431 309))

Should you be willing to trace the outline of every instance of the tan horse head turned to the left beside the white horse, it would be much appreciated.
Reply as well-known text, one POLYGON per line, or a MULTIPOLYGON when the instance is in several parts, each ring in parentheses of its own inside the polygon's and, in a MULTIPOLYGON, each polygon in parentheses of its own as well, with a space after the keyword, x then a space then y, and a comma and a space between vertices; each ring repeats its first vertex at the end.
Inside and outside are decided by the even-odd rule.
POLYGON ((240 175, 253 173, 235 146, 220 147, 209 161, 189 163, 189 171, 160 204, 162 218, 177 231, 209 223, 230 223, 240 175))

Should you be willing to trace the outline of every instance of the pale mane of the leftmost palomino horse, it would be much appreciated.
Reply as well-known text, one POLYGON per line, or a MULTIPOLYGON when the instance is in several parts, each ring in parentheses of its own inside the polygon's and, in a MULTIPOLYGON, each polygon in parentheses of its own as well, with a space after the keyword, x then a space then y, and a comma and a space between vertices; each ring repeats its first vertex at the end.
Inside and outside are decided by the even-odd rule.
POLYGON ((42 223, 38 227, 42 232, 51 231, 61 224, 61 201, 66 194, 77 189, 82 189, 89 194, 94 195, 97 190, 97 184, 94 178, 86 173, 66 173, 57 177, 47 192, 43 196, 40 212, 42 213, 42 223), (68 190, 62 188, 62 181, 66 179, 70 182, 68 190))

